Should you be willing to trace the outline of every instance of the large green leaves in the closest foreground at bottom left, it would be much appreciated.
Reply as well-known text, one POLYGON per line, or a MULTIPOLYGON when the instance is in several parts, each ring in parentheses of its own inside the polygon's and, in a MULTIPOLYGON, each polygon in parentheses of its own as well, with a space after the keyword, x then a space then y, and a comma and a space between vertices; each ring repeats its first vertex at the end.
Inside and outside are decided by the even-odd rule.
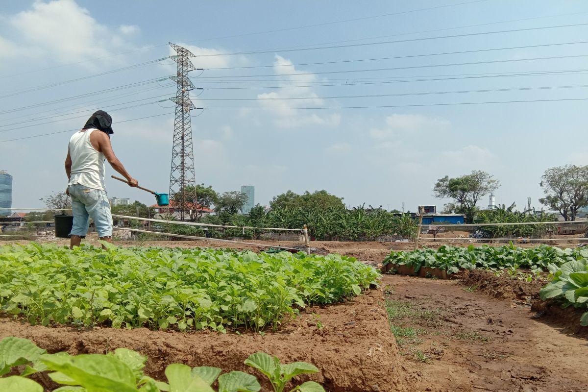
MULTIPOLYGON (((220 374, 221 370, 217 367, 190 368, 179 363, 166 367, 165 376, 169 384, 163 383, 143 374, 147 357, 125 348, 106 355, 81 354, 72 357, 67 353, 46 354, 30 340, 6 337, 0 341, 0 357, 18 363, 14 366, 26 361, 44 364, 44 370, 52 371, 49 373, 52 380, 64 385, 57 388, 57 392, 215 392, 211 385, 217 378, 218 392, 259 392, 261 389, 255 376, 242 371, 220 374)), ((292 377, 318 371, 318 368, 305 362, 282 365, 279 359, 265 353, 252 354, 245 363, 266 374, 275 391, 279 392, 292 377)), ((43 388, 28 378, 11 376, 0 378, 0 391, 43 392, 43 388)), ((292 391, 324 392, 313 381, 307 381, 292 391)))

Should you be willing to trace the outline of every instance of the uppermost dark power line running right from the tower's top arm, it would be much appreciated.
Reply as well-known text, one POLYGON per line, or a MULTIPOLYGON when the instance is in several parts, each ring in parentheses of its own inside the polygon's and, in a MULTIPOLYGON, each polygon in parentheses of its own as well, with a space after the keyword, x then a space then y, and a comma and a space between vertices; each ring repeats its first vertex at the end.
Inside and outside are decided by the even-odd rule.
POLYGON ((316 50, 320 50, 320 49, 338 49, 338 48, 350 48, 353 46, 384 45, 387 43, 427 41, 429 39, 460 38, 460 37, 476 36, 476 35, 512 33, 512 32, 519 32, 519 31, 536 31, 536 30, 543 30, 543 29, 556 29, 556 28, 577 27, 577 26, 586 26, 586 25, 588 25, 588 23, 570 24, 570 25, 556 25, 556 26, 541 26, 541 27, 530 27, 530 28, 524 28, 524 29, 510 29, 510 30, 500 30, 500 31, 485 31, 485 32, 479 32, 479 33, 442 35, 442 36, 433 36, 433 37, 424 37, 424 38, 398 39, 396 41, 351 43, 349 45, 319 46, 316 48, 298 48, 298 49, 282 48, 282 49, 266 49, 263 51, 250 51, 250 52, 214 53, 214 54, 209 54, 209 55, 199 55, 198 57, 255 55, 255 54, 261 54, 261 53, 273 53, 273 52, 316 51, 316 50))

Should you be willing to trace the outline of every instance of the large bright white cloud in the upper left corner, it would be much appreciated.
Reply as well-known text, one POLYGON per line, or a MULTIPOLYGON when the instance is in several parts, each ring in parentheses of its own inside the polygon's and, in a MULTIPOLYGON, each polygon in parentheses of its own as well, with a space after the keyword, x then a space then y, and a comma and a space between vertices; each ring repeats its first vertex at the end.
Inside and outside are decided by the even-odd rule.
POLYGON ((111 31, 74 0, 35 1, 28 10, 7 16, 6 21, 18 37, 13 44, 26 45, 45 58, 66 62, 109 56, 121 48, 133 48, 119 33, 138 29, 121 26, 118 31, 111 31))

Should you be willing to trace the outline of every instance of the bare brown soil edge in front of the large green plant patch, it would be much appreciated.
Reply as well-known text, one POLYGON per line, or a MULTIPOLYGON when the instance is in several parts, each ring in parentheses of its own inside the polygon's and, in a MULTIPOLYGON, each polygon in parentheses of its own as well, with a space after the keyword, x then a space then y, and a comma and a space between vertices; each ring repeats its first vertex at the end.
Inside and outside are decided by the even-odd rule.
POLYGON ((318 381, 330 392, 404 392, 398 349, 383 303, 382 291, 372 290, 348 303, 312 307, 282 330, 263 335, 144 328, 77 330, 65 326, 32 327, 4 318, 0 319, 0 339, 31 339, 50 353, 105 353, 127 347, 148 356, 145 371, 159 379, 163 379, 163 370, 171 363, 251 372, 243 361, 250 354, 263 351, 279 357, 283 363, 315 364, 320 372, 300 380, 318 381))

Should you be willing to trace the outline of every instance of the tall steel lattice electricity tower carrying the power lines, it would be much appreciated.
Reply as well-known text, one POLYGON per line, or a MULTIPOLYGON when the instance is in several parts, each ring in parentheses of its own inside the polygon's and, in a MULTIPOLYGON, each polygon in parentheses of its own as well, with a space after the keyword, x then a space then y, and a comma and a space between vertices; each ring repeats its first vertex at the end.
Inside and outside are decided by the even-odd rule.
POLYGON ((192 148, 192 124, 190 111, 195 109, 190 100, 189 91, 194 85, 188 78, 188 72, 193 71, 195 66, 190 60, 195 57, 188 49, 182 46, 169 43, 178 53, 176 56, 169 56, 178 63, 178 73, 170 79, 178 84, 175 98, 170 98, 176 103, 176 119, 173 124, 173 145, 172 145, 172 168, 169 174, 169 197, 174 202, 174 209, 183 220, 187 210, 195 207, 195 170, 194 152, 192 148), (188 194, 186 187, 192 186, 192 192, 188 194))

